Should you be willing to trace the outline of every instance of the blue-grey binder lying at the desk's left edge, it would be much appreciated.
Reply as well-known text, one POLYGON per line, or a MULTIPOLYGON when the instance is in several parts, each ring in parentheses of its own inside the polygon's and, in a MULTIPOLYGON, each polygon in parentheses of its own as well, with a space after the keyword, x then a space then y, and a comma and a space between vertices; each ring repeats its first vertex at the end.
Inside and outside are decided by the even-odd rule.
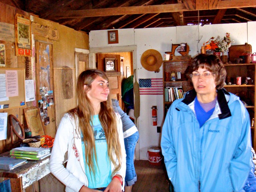
POLYGON ((14 168, 24 164, 26 160, 15 159, 11 157, 0 157, 0 169, 13 170, 14 168))

